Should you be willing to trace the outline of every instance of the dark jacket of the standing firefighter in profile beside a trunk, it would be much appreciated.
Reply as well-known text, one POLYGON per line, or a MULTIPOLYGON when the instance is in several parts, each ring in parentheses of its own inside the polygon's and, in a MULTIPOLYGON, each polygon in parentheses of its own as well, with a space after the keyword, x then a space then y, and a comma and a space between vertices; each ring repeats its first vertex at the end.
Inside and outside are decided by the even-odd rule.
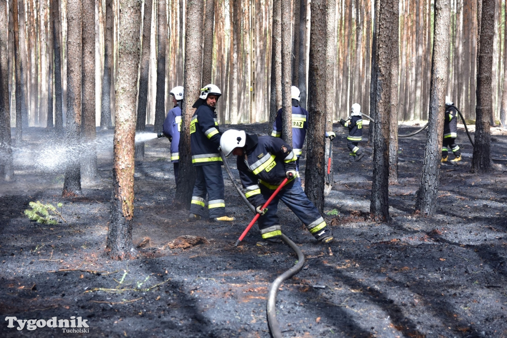
POLYGON ((219 153, 221 136, 215 108, 201 104, 190 121, 190 146, 194 166, 222 163, 219 153))

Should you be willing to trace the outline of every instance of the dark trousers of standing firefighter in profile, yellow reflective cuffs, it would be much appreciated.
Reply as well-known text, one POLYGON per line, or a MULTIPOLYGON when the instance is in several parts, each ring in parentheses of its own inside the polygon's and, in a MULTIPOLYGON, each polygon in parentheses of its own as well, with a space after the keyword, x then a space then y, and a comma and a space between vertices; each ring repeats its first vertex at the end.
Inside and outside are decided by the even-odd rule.
POLYGON ((209 218, 225 216, 224 177, 222 164, 213 163, 195 166, 196 179, 190 213, 206 215, 206 195, 208 196, 209 218))

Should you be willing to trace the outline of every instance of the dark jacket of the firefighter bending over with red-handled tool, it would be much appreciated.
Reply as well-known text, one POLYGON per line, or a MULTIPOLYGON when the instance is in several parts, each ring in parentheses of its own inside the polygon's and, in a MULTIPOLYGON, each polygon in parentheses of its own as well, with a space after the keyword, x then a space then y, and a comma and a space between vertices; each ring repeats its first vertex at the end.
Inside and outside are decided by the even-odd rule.
POLYGON ((286 171, 296 170, 297 157, 292 147, 281 138, 268 135, 249 135, 245 153, 246 159, 244 156, 237 157, 239 178, 248 202, 262 205, 266 201, 259 184, 275 190, 286 177, 286 171))

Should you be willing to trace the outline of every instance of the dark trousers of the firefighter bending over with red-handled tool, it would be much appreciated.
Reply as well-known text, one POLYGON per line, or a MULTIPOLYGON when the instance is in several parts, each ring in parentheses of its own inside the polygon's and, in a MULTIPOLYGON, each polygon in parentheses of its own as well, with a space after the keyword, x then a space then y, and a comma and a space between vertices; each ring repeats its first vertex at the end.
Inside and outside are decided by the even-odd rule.
MULTIPOLYGON (((265 200, 268 200, 274 191, 268 189, 263 184, 259 185, 261 187, 261 194, 265 200)), ((294 180, 278 192, 273 201, 268 205, 266 213, 257 220, 263 238, 281 235, 280 220, 276 215, 280 200, 298 216, 312 235, 315 236, 319 230, 325 228, 324 219, 306 196, 301 187, 301 182, 294 180), (266 236, 268 233, 273 236, 266 236)))

